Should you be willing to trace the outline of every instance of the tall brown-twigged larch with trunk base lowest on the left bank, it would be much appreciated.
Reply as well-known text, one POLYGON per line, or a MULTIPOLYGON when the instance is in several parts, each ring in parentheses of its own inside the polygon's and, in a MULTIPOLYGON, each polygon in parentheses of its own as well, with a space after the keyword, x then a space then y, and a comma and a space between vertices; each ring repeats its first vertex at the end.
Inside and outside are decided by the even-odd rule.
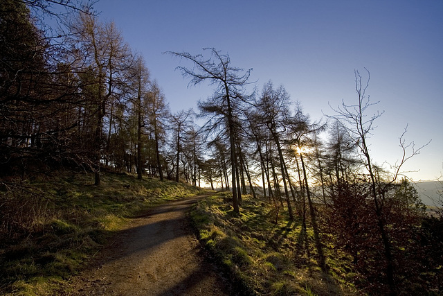
MULTIPOLYGON (((96 116, 93 132, 95 153, 93 171, 95 183, 100 185, 100 166, 102 160, 102 133, 108 108, 114 101, 123 98, 121 92, 127 85, 127 71, 135 67, 129 46, 123 41, 121 33, 113 22, 102 24, 96 17, 80 12, 72 30, 77 34, 70 41, 76 49, 76 71, 89 72, 91 81, 84 81, 91 87, 89 100, 96 116)), ((111 124, 109 124, 111 125, 111 124)), ((110 128, 110 126, 109 126, 110 128)))

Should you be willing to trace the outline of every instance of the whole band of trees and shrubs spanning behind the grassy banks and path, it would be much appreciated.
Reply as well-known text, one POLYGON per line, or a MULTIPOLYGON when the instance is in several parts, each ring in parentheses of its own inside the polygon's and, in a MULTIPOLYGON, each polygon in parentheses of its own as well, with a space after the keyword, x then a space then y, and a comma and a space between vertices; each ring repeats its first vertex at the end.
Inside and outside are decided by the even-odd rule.
POLYGON ((442 204, 426 214, 401 174, 426 145, 405 130, 400 161, 377 166, 370 136, 383 113, 372 111, 368 70, 355 71, 354 102, 312 121, 283 85, 255 85, 222 51, 170 51, 190 85, 213 87, 198 110, 173 113, 118 25, 84 3, 3 0, 0 38, 1 247, 39 223, 24 219, 44 200, 28 194, 30 180, 69 171, 100 187, 104 173, 127 173, 230 191, 234 216, 247 214, 245 198, 266 203, 269 221, 311 235, 322 272, 329 245, 345 253, 362 293, 442 292, 442 204))

